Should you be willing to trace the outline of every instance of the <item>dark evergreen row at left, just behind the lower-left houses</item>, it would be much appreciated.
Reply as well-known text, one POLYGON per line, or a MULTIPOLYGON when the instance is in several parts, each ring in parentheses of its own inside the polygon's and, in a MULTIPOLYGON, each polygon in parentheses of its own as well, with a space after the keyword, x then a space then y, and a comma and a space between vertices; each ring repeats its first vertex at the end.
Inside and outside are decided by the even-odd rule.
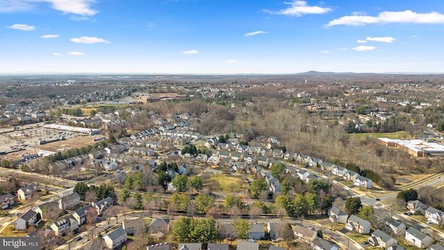
POLYGON ((77 192, 80 199, 85 201, 87 199, 95 199, 96 201, 100 201, 106 197, 111 197, 113 201, 117 201, 117 195, 116 192, 114 192, 114 187, 112 185, 88 186, 86 183, 80 182, 74 186, 73 192, 77 192))

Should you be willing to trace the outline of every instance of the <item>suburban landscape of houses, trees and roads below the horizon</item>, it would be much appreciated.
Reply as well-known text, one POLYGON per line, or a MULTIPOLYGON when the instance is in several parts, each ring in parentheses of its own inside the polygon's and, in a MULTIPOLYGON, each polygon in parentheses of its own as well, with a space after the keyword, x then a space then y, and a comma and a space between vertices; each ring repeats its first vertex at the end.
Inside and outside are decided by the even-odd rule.
POLYGON ((0 236, 444 249, 439 74, 0 77, 0 236))

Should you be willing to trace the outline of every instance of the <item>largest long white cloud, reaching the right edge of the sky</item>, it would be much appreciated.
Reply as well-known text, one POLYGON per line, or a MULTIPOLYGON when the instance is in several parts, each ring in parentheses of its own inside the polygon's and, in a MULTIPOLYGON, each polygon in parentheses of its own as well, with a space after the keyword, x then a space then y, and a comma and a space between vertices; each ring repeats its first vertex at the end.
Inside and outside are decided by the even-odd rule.
POLYGON ((417 13, 411 10, 384 11, 377 17, 369 15, 350 15, 330 21, 327 26, 352 25, 363 26, 366 24, 444 24, 444 15, 438 12, 417 13))

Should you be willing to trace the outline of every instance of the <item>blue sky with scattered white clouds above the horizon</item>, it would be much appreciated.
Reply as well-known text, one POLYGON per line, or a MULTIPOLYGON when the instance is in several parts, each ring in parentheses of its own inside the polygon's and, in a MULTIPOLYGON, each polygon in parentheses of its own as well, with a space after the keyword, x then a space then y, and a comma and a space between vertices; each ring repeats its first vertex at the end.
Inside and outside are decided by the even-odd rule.
POLYGON ((436 0, 0 0, 0 74, 444 72, 436 0))

